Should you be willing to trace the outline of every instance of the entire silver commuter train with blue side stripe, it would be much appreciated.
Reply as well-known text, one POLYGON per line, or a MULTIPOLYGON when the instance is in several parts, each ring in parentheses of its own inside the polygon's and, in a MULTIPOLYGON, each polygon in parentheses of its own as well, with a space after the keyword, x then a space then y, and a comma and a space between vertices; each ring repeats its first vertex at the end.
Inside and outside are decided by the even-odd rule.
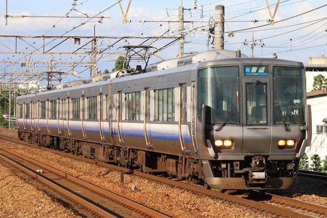
POLYGON ((208 51, 16 99, 21 140, 214 189, 288 189, 311 143, 303 63, 208 51))

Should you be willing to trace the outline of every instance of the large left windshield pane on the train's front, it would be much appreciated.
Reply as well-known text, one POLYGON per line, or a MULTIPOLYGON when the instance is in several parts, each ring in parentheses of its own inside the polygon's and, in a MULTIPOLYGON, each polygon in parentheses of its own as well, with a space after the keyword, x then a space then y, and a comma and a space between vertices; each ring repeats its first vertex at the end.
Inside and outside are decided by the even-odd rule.
MULTIPOLYGON (((198 114, 202 119, 202 105, 210 109, 211 123, 238 124, 239 67, 222 66, 199 70, 198 114)), ((207 117, 206 117, 207 119, 207 117)))

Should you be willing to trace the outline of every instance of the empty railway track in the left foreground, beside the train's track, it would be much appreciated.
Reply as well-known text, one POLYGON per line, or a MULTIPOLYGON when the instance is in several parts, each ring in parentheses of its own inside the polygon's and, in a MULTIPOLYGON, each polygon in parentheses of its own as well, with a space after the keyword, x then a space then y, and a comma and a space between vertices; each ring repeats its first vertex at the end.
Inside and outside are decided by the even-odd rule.
POLYGON ((143 205, 101 189, 51 166, 0 147, 0 159, 14 165, 46 186, 87 208, 87 216, 167 218, 143 205))

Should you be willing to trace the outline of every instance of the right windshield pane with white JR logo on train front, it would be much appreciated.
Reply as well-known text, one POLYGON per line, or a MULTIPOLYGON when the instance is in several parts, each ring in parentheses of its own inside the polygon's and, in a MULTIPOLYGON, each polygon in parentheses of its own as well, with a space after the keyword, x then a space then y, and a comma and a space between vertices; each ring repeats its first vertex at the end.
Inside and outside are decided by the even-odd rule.
POLYGON ((306 114, 303 68, 274 66, 274 124, 304 123, 306 114))

